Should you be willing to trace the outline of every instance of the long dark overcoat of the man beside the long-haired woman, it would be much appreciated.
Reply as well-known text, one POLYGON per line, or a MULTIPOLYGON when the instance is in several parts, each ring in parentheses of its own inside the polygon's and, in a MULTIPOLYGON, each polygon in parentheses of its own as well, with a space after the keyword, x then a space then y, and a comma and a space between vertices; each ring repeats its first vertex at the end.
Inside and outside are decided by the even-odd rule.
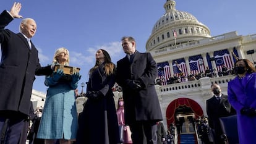
POLYGON ((127 125, 134 121, 161 121, 163 119, 155 90, 157 75, 156 62, 150 53, 137 52, 131 64, 127 56, 117 61, 116 82, 122 87, 127 125), (131 90, 127 87, 127 79, 140 80, 142 89, 131 90))

